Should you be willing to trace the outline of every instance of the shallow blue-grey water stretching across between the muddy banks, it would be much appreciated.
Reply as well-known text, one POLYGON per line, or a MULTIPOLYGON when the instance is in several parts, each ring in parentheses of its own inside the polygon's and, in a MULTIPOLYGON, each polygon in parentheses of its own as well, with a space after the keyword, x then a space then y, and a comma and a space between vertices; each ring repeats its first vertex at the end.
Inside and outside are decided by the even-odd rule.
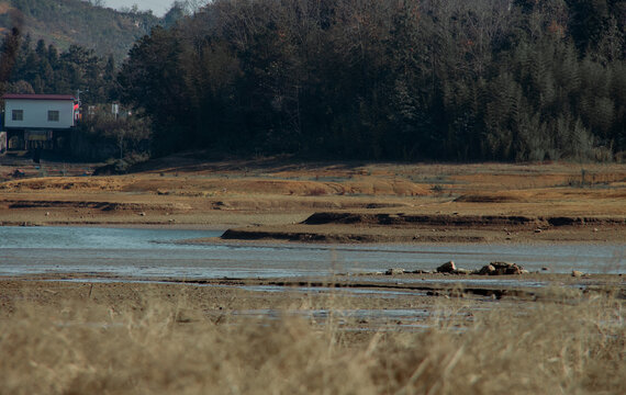
POLYGON ((468 269, 494 261, 534 271, 572 269, 592 273, 626 271, 626 241, 612 245, 188 245, 180 240, 221 232, 0 227, 0 275, 83 272, 136 278, 272 278, 383 271, 432 270, 454 260, 468 269))

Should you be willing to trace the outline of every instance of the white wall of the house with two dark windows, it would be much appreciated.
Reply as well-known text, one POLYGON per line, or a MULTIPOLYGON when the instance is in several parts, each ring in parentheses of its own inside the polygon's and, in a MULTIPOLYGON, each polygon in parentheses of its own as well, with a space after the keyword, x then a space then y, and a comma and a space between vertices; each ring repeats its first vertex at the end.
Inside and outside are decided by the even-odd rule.
POLYGON ((68 128, 74 126, 72 100, 15 100, 4 101, 4 127, 68 128), (13 110, 23 111, 22 121, 13 121, 13 110), (48 121, 48 111, 58 111, 58 122, 48 121))

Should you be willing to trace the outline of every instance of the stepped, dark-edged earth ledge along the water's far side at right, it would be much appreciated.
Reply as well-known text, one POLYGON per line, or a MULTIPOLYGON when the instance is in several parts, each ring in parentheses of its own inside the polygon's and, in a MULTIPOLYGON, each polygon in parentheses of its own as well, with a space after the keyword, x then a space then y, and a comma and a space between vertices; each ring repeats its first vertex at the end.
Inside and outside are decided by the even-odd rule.
POLYGON ((610 229, 625 225, 626 218, 600 216, 320 212, 299 224, 231 228, 222 238, 313 242, 599 241, 612 238, 610 229))

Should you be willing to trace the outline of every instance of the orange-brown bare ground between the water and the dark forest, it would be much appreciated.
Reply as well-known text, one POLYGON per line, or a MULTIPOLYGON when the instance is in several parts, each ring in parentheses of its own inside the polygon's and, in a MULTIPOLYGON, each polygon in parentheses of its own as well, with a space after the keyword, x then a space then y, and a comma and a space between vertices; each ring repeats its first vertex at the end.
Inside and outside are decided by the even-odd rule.
POLYGON ((626 239, 626 165, 205 162, 199 156, 107 177, 86 177, 94 165, 34 168, 3 159, 0 223, 231 228, 225 237, 326 242, 626 239), (12 179, 16 168, 27 178, 12 179), (36 177, 46 174, 54 177, 36 177))

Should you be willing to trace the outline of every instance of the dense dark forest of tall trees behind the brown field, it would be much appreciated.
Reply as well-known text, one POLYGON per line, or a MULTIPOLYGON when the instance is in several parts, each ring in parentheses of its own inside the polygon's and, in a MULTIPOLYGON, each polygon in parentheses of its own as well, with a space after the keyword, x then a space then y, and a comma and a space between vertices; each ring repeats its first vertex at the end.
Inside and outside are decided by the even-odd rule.
POLYGON ((91 100, 133 108, 156 156, 614 160, 625 24, 622 0, 215 0, 119 67, 11 35, 2 53, 21 53, 13 84, 64 93, 81 77, 91 100))

